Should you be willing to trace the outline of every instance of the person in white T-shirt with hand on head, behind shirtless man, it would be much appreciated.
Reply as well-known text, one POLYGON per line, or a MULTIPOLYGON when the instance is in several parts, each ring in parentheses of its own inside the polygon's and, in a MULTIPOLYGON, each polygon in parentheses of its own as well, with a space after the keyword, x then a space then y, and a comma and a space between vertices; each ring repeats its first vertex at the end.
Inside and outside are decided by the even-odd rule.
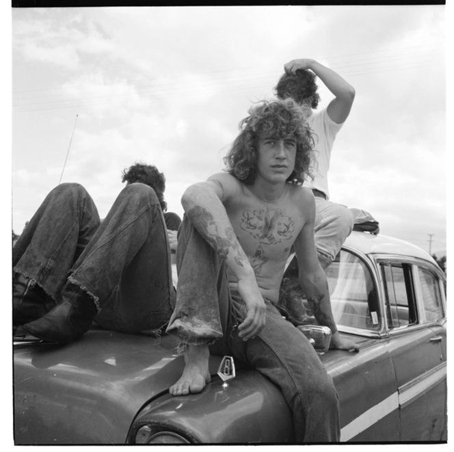
MULTIPOLYGON (((341 250, 353 228, 353 214, 347 207, 329 200, 328 170, 331 151, 338 131, 347 120, 355 98, 355 89, 334 70, 314 59, 293 59, 284 65, 275 91, 279 99, 292 98, 305 111, 307 124, 312 129, 316 160, 312 178, 306 177, 304 187, 315 196, 315 246, 321 267, 326 270, 341 250), (314 111, 319 105, 316 79, 334 94, 328 107, 314 111)), ((289 270, 294 269, 294 260, 289 270)))

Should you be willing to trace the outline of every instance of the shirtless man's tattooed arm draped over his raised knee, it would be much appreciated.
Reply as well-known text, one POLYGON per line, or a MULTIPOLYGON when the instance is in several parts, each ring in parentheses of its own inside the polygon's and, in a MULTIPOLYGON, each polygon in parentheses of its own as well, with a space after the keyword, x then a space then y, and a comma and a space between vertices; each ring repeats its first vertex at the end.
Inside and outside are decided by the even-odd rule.
MULTIPOLYGON (((219 178, 224 176, 232 177, 222 174, 219 178)), ((183 194, 181 204, 193 226, 237 276, 238 291, 247 310, 245 319, 238 327, 239 336, 247 341, 265 326, 266 306, 258 289, 254 270, 222 204, 222 201, 230 196, 231 190, 232 185, 225 183, 225 177, 224 183, 221 183, 212 176, 206 182, 191 185, 183 194)))

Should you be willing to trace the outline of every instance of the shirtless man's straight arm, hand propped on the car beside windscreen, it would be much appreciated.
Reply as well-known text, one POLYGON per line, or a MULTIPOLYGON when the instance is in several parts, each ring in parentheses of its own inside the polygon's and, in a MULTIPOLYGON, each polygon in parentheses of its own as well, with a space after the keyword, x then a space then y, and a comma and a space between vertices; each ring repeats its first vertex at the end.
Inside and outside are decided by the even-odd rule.
POLYGON ((305 196, 306 224, 295 241, 298 259, 299 284, 307 297, 315 319, 320 325, 328 326, 332 332, 331 348, 359 350, 356 343, 341 338, 336 328, 330 302, 330 289, 325 272, 319 264, 314 241, 315 202, 313 196, 305 196))

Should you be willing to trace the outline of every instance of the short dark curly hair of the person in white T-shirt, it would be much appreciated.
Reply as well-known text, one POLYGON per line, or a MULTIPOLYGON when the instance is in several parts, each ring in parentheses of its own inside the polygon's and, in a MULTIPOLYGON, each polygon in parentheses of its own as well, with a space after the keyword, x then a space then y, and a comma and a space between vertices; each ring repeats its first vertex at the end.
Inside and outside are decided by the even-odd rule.
POLYGON ((285 73, 274 87, 279 99, 292 98, 299 105, 310 105, 316 109, 319 106, 320 96, 317 93, 317 75, 308 69, 299 69, 295 75, 285 73))

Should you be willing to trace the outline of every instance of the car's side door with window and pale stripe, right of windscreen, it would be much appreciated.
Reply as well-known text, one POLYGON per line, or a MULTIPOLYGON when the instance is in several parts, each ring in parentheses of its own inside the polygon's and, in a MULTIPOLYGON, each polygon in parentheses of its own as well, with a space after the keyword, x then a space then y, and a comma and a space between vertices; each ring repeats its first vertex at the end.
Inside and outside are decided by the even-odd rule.
MULTIPOLYGON (((423 290, 420 282, 427 275, 420 276, 415 262, 401 258, 382 261, 380 267, 399 393, 400 440, 440 440, 446 403, 446 355, 442 351, 446 331, 436 321, 428 321, 430 314, 422 298, 429 289, 425 284, 423 290)), ((432 291, 436 282, 431 282, 432 291)))

